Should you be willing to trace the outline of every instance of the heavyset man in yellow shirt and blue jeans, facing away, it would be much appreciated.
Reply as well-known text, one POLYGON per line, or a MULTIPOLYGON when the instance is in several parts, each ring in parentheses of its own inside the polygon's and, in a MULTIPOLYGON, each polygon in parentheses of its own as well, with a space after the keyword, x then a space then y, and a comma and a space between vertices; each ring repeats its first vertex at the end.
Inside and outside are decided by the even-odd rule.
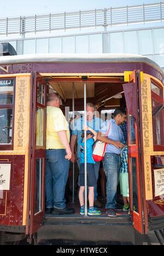
POLYGON ((69 127, 57 94, 48 95, 46 107, 45 213, 73 214, 66 207, 65 188, 72 157, 69 127))

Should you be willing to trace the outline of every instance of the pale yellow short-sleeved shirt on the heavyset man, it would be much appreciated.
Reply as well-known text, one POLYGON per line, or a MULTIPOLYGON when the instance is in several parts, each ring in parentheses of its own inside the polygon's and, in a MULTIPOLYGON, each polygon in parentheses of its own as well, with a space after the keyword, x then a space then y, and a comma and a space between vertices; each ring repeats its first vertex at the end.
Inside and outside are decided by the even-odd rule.
POLYGON ((60 108, 46 107, 46 149, 65 149, 60 139, 58 131, 66 131, 69 142, 70 132, 65 115, 60 108))

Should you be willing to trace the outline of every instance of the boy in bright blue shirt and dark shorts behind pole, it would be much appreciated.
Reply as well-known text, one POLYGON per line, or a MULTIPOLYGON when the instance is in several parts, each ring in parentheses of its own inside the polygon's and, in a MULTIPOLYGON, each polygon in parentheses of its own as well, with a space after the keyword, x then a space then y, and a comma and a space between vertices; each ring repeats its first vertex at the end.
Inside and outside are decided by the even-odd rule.
MULTIPOLYGON (((91 129, 88 126, 83 127, 86 130, 86 159, 87 159, 87 184, 89 187, 89 210, 87 212, 88 215, 100 215, 101 211, 98 211, 94 208, 94 187, 97 183, 94 164, 95 161, 92 158, 93 153, 93 143, 97 139, 97 132, 91 129)), ((80 201, 80 214, 85 214, 85 205, 84 205, 84 190, 85 190, 85 174, 84 174, 84 165, 85 165, 85 147, 84 147, 84 132, 81 135, 81 139, 79 141, 79 148, 80 148, 80 189, 79 189, 79 201, 80 201)))

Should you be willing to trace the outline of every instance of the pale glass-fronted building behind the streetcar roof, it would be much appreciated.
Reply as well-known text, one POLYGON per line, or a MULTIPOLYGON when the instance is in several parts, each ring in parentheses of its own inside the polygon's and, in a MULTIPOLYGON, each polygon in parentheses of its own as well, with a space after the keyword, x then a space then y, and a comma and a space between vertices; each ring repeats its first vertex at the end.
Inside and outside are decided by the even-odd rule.
MULTIPOLYGON (((85 21, 86 24, 82 26, 84 21, 81 16, 83 13, 77 13, 76 17, 73 14, 72 19, 74 20, 69 20, 69 28, 66 26, 67 16, 58 14, 57 17, 61 17, 65 24, 65 27, 58 24, 58 28, 60 29, 50 27, 50 25, 52 26, 52 21, 51 23, 49 21, 48 30, 45 27, 46 22, 44 22, 44 19, 49 18, 50 20, 51 16, 46 15, 45 17, 39 17, 40 23, 38 30, 37 26, 35 28, 33 26, 27 30, 28 20, 25 19, 24 23, 21 20, 21 24, 24 25, 23 31, 16 33, 15 29, 15 32, 11 31, 9 33, 10 27, 6 27, 7 32, 5 31, 3 34, 1 32, 0 19, 0 42, 9 42, 12 44, 18 55, 42 53, 140 54, 157 62, 164 71, 164 3, 159 2, 156 5, 143 4, 136 7, 129 7, 129 9, 126 8, 110 8, 104 9, 102 12, 99 10, 97 13, 84 13, 85 19, 89 17, 86 15, 90 15, 92 20, 95 19, 95 27, 93 24, 90 24, 91 21, 85 21), (133 21, 130 20, 132 19, 130 11, 134 12, 134 10, 136 11, 136 19, 133 21), (138 11, 143 13, 143 10, 145 14, 141 17, 138 11), (93 14, 95 15, 94 17, 93 14), (105 14, 106 16, 104 16, 105 14), (152 14, 154 15, 152 16, 152 14), (98 21, 101 21, 100 15, 103 15, 103 21, 98 24, 98 21), (117 19, 116 16, 118 17, 117 19), (154 16, 155 18, 152 20, 154 16)), ((71 17, 71 14, 69 16, 71 17)), ((38 21, 34 21, 34 24, 37 24, 38 21)))

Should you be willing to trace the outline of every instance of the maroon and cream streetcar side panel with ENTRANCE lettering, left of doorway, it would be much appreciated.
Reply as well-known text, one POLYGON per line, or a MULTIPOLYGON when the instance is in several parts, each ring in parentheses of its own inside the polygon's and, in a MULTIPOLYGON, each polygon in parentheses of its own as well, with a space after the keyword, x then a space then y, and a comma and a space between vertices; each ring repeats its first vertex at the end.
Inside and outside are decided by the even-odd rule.
MULTIPOLYGON (((8 121, 12 132, 9 132, 11 142, 0 144, 0 167, 3 163, 10 164, 10 188, 0 193, 0 225, 25 226, 27 215, 27 181, 28 181, 28 143, 30 123, 30 75, 13 75, 14 97, 13 117, 8 121), (13 126, 12 126, 13 125, 13 126), (13 143, 12 143, 13 142, 13 143), (4 147, 5 146, 5 147, 4 147), (8 147, 9 146, 9 147, 8 147), (10 146, 12 148, 10 148, 10 146)), ((4 78, 3 78, 4 80, 4 78)), ((10 76, 5 76, 10 81, 10 76)), ((0 77, 1 81, 1 77, 0 77)), ((8 94, 7 88, 0 88, 1 97, 8 94)), ((1 111, 9 109, 7 104, 0 104, 1 111)), ((9 115, 7 116, 9 118, 9 115)), ((2 115, 0 123, 2 124, 2 115)), ((0 169, 2 170, 2 168, 0 169)), ((3 170, 2 170, 3 172, 3 170)), ((2 173, 3 174, 3 173, 2 173)), ((3 177, 3 176, 2 176, 3 177)))

